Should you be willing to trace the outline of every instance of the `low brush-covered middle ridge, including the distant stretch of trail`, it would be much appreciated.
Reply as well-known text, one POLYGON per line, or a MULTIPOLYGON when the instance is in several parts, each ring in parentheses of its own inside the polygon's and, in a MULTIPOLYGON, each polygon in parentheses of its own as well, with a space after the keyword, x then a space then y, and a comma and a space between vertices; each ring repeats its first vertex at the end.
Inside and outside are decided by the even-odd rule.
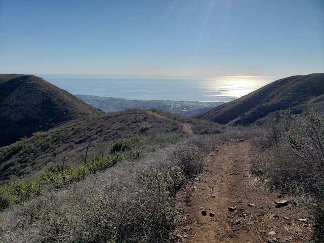
POLYGON ((2 147, 0 184, 18 178, 32 178, 49 167, 62 163, 64 156, 67 163, 78 164, 84 160, 90 142, 89 157, 107 155, 113 142, 136 135, 143 137, 149 144, 146 150, 154 150, 179 140, 188 127, 195 134, 215 134, 224 129, 203 120, 155 112, 157 111, 128 109, 101 117, 79 118, 2 147))

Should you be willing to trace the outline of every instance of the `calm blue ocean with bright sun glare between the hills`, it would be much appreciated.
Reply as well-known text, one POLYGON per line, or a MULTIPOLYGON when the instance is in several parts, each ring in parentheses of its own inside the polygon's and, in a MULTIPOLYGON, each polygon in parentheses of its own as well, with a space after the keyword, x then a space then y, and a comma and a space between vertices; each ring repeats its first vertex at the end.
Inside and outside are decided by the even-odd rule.
POLYGON ((99 74, 36 74, 73 95, 133 100, 228 102, 274 80, 274 76, 132 77, 99 74))

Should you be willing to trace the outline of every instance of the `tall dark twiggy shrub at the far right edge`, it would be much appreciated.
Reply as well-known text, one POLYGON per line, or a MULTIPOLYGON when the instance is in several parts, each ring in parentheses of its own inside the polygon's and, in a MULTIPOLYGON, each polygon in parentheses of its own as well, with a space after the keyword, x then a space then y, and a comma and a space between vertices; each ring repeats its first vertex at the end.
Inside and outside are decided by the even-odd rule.
POLYGON ((308 189, 316 201, 314 215, 317 223, 315 236, 324 239, 324 117, 310 112, 298 117, 288 132, 291 147, 298 151, 303 167, 301 177, 308 177, 308 189))

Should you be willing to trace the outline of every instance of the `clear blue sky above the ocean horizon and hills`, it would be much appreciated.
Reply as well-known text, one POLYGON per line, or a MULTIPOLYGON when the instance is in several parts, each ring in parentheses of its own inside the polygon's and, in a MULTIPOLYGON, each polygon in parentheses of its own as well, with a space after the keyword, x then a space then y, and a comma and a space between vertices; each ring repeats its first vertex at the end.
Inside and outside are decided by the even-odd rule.
POLYGON ((324 70, 324 1, 0 0, 0 73, 324 70))

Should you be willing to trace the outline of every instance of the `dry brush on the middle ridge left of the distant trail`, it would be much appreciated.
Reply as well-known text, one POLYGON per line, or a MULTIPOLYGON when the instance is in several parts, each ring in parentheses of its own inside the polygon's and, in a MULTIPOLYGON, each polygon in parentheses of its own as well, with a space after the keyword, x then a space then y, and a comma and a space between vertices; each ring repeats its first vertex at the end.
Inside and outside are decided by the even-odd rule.
POLYGON ((89 156, 107 155, 111 144, 117 139, 140 134, 152 137, 169 132, 179 133, 175 121, 152 117, 142 110, 126 110, 111 113, 104 117, 69 121, 48 132, 30 137, 26 146, 17 151, 12 146, 0 148, 0 180, 13 182, 19 178, 33 177, 47 168, 62 163, 66 154, 68 163, 84 160, 86 147, 92 141, 89 156), (141 132, 145 122, 150 129, 141 132), (176 127, 176 129, 174 129, 176 127))

